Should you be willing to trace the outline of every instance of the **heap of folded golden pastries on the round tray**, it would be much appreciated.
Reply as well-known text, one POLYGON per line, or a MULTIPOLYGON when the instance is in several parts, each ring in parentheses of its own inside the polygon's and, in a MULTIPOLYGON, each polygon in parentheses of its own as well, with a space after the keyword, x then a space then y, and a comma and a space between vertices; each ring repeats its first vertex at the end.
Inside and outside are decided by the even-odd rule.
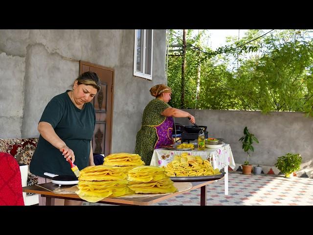
POLYGON ((200 156, 188 155, 188 153, 182 153, 180 156, 176 155, 174 160, 177 164, 173 164, 174 161, 164 166, 165 174, 170 177, 174 176, 207 176, 207 175, 219 175, 221 174, 218 168, 213 169, 208 160, 202 160, 200 156), (179 159, 180 158, 180 159, 179 159))

